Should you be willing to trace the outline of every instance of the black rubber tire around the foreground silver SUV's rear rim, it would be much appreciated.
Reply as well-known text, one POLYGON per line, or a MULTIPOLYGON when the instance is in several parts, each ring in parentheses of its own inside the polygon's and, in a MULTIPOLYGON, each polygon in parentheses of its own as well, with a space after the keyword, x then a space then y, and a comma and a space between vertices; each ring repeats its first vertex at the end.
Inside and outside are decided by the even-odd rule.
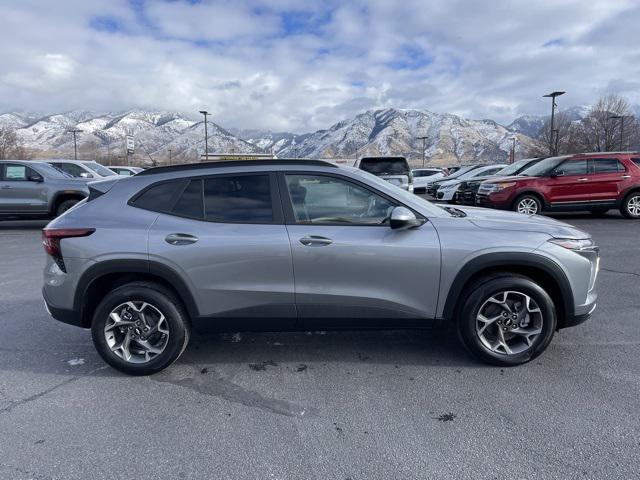
POLYGON ((116 370, 129 375, 150 375, 175 362, 189 343, 189 317, 176 296, 162 286, 151 282, 133 282, 109 292, 98 305, 91 323, 91 336, 102 359, 116 370), (105 325, 110 313, 128 301, 147 302, 164 315, 168 324, 168 340, 162 353, 146 363, 131 363, 116 353, 107 344, 105 325))

